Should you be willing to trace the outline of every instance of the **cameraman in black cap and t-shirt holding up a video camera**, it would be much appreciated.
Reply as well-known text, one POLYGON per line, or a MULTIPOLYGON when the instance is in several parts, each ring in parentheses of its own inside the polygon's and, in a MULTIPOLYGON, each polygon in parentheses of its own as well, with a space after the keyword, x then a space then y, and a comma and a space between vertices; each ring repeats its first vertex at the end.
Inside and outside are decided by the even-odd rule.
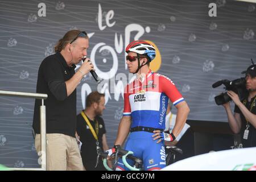
POLYGON ((240 101, 238 95, 229 90, 228 95, 236 104, 234 115, 230 103, 223 104, 228 115, 229 125, 235 134, 241 134, 244 147, 256 147, 256 64, 250 65, 245 73, 246 90, 245 100, 240 101))

